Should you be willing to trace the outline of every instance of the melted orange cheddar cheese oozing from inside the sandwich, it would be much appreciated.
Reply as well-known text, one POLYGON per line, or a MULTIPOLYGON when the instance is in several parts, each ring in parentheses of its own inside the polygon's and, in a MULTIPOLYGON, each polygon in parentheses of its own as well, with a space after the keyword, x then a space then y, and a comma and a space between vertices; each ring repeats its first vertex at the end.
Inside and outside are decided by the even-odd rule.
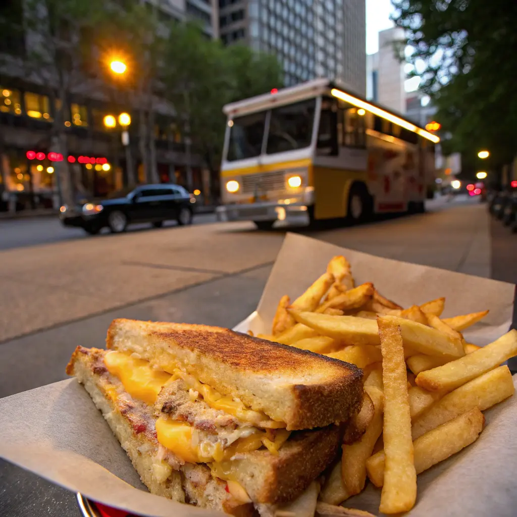
MULTIPOLYGON (((246 437, 240 437, 229 447, 223 448, 220 441, 207 440, 199 443, 197 431, 187 422, 179 422, 167 416, 160 416, 156 421, 158 443, 171 450, 187 463, 220 463, 230 460, 235 454, 250 452, 263 445, 273 454, 278 454, 290 433, 285 424, 271 420, 266 414, 246 408, 240 401, 223 396, 214 388, 201 383, 193 375, 175 369, 173 373, 155 370, 148 361, 136 359, 129 354, 112 351, 104 356, 104 364, 108 371, 120 379, 124 389, 136 399, 148 405, 156 402, 162 387, 178 378, 183 379, 190 390, 199 393, 203 400, 213 409, 220 409, 237 417, 240 421, 267 430, 256 429, 246 437), (271 429, 276 429, 272 431, 271 429)), ((218 476, 220 477, 220 476, 218 476)))

